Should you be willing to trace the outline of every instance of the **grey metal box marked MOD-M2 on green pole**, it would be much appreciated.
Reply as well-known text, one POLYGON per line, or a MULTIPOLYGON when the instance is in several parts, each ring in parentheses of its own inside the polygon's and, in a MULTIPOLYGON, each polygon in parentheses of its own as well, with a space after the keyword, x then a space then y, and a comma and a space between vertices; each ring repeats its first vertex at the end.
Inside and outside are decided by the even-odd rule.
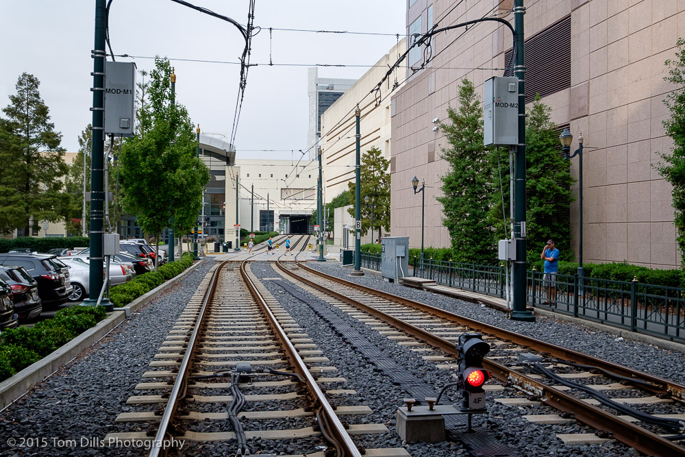
POLYGON ((519 144, 519 78, 493 76, 483 89, 483 143, 519 144))

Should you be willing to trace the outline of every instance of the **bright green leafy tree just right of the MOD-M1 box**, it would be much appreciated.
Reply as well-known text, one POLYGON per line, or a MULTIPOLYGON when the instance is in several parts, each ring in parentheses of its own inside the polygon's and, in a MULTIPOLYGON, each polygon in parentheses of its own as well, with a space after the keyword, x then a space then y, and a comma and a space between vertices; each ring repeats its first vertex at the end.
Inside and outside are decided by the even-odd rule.
POLYGON ((155 236, 157 250, 171 217, 185 221, 195 208, 193 221, 197 218, 210 178, 207 166, 195 158, 197 141, 186 108, 171 104, 171 73, 169 60, 155 58, 148 101, 138 106, 138 136, 123 144, 119 171, 123 208, 155 236))

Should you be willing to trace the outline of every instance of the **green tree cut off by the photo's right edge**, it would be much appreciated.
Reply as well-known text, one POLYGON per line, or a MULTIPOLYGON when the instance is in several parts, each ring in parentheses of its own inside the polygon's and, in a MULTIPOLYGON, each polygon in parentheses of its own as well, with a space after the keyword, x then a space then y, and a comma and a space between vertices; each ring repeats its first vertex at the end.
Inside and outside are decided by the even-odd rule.
POLYGON ((685 40, 678 38, 676 44, 675 58, 665 62, 669 75, 664 77, 675 86, 664 99, 671 117, 663 123, 666 134, 673 140, 673 149, 670 153, 660 153, 662 161, 656 164, 656 169, 673 186, 673 223, 677 230, 681 267, 685 268, 685 40))

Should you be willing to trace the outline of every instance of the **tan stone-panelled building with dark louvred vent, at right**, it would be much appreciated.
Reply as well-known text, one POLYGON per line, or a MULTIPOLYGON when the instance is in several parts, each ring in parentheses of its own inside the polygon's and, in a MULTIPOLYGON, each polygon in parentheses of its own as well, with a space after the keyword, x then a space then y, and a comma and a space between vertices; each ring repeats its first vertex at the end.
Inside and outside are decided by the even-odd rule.
MULTIPOLYGON (((498 3, 409 0, 408 32, 425 33, 438 21, 443 27, 493 14, 513 25, 513 0, 498 3)), ((685 36, 685 3, 525 0, 524 7, 527 101, 540 92, 552 108, 552 121, 569 126, 571 151, 581 132, 585 139, 584 260, 677 267, 671 187, 652 164, 672 146, 662 126, 669 116, 663 100, 673 89, 663 79, 664 61, 675 54, 678 36, 685 36)), ((440 158, 446 140, 432 132, 431 120, 444 121, 447 107, 457 106, 462 78, 471 79, 482 94, 485 79, 503 74, 511 49, 510 32, 496 23, 463 32, 436 36, 434 59, 393 97, 391 225, 393 235, 410 236, 413 247, 421 243, 421 196, 414 196, 414 175, 425 178, 427 186, 425 245, 449 246, 435 199, 447 172, 440 158)), ((409 65, 419 68, 423 55, 415 53, 409 65)), ((577 158, 571 169, 577 178, 577 158)), ((576 253, 577 220, 576 201, 569 234, 576 253)))

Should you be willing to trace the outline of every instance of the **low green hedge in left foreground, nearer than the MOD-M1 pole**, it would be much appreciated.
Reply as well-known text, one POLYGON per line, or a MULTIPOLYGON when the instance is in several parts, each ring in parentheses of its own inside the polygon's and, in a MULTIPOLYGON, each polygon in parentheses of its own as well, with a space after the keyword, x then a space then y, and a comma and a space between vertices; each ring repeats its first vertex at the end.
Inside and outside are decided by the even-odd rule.
POLYGON ((102 306, 72 306, 33 327, 5 330, 0 335, 0 381, 47 356, 106 316, 102 306))

